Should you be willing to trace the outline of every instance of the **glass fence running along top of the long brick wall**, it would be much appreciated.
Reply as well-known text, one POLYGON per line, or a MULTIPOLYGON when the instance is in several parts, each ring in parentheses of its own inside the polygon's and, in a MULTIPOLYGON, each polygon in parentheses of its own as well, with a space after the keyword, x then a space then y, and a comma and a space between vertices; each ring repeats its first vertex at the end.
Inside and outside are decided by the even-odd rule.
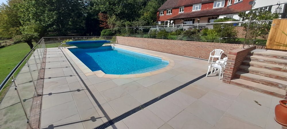
MULTIPOLYGON (((232 44, 243 44, 245 42, 246 44, 256 43, 257 45, 265 45, 268 33, 262 36, 260 34, 262 29, 260 30, 260 28, 262 26, 271 26, 271 23, 272 20, 251 21, 250 25, 249 21, 229 21, 203 24, 125 27, 110 30, 116 36, 232 44)), ((269 29, 265 30, 265 32, 269 32, 269 29)))

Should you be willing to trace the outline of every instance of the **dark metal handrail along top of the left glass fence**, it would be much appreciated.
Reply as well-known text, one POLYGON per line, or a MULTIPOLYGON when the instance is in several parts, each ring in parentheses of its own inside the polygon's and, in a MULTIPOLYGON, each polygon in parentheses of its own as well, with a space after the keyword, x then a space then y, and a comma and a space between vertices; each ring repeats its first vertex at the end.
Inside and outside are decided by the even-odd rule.
POLYGON ((0 92, 3 89, 3 87, 7 84, 7 82, 9 81, 9 79, 12 77, 12 75, 19 69, 19 67, 21 66, 21 64, 23 62, 26 62, 26 58, 35 50, 36 46, 38 44, 40 44, 40 41, 42 41, 43 38, 41 38, 39 40, 39 42, 37 44, 34 45, 34 47, 31 49, 31 51, 24 56, 24 58, 14 67, 14 69, 7 75, 7 77, 2 81, 1 85, 0 85, 0 92))

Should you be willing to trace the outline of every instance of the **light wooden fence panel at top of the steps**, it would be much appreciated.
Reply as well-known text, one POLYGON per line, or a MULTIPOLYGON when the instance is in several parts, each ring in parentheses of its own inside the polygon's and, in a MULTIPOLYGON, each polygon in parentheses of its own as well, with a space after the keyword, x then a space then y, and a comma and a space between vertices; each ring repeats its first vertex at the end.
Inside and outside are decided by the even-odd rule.
POLYGON ((287 35, 283 32, 287 34, 287 19, 274 19, 269 32, 266 48, 287 50, 287 35), (278 46, 283 44, 286 46, 278 46))

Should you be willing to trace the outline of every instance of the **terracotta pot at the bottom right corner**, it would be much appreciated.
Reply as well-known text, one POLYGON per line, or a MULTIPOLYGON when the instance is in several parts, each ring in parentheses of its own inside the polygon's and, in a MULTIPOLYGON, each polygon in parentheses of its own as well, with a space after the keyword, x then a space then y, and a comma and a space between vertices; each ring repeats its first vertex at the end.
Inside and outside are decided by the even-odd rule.
POLYGON ((282 126, 287 126, 287 100, 280 100, 275 107, 275 121, 282 126))

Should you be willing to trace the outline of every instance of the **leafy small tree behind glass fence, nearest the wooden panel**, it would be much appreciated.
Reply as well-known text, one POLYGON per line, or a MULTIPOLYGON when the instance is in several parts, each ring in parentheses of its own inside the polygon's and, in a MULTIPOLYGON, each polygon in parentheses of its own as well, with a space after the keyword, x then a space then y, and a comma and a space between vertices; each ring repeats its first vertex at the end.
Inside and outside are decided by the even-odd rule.
MULTIPOLYGON (((240 12, 238 14, 239 17, 247 17, 246 19, 249 20, 249 17, 255 17, 258 20, 273 20, 279 17, 278 13, 272 13, 271 11, 263 10, 263 9, 251 9, 248 13, 240 12)), ((253 19, 252 19, 253 20, 253 19)), ((267 22, 251 22, 249 26, 249 30, 253 30, 253 37, 263 37, 267 38, 266 35, 269 34, 271 28, 272 21, 267 22)), ((245 31, 248 28, 248 23, 243 23, 241 26, 244 26, 245 31)))

